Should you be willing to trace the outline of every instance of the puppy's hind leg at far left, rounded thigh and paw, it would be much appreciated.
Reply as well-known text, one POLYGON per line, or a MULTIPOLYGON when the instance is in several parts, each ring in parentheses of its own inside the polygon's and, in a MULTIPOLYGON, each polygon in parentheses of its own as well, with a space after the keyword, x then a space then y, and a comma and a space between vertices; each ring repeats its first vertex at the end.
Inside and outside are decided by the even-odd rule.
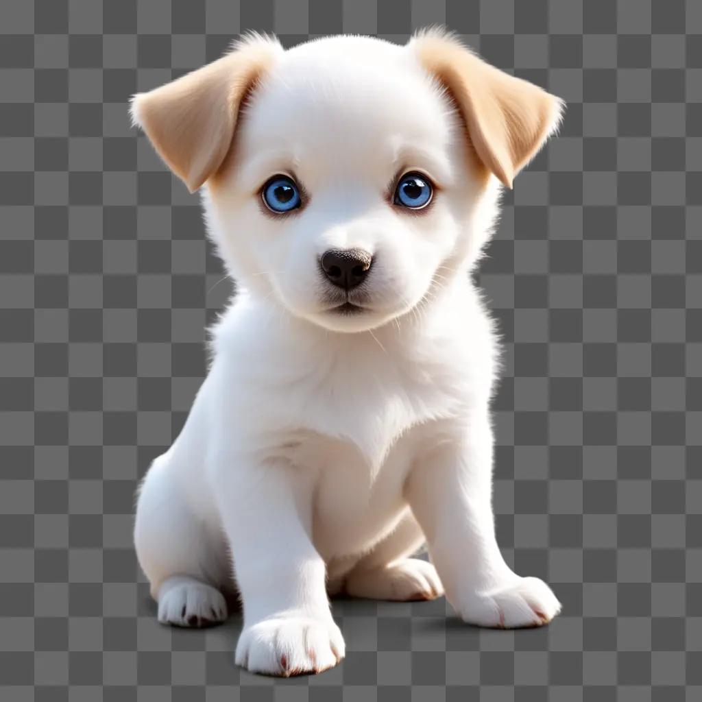
POLYGON ((159 621, 206 626, 227 618, 223 540, 211 534, 180 494, 169 461, 154 461, 140 490, 134 529, 139 563, 159 604, 159 621))

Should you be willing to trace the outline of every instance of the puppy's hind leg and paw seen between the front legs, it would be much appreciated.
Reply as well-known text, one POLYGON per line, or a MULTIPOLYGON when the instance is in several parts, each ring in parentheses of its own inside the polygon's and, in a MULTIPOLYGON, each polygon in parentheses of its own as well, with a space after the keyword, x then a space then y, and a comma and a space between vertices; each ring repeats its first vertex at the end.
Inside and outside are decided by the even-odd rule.
POLYGON ((397 529, 364 556, 346 578, 345 590, 352 597, 371 600, 434 600, 444 593, 435 567, 411 558, 424 543, 424 534, 412 513, 397 529))

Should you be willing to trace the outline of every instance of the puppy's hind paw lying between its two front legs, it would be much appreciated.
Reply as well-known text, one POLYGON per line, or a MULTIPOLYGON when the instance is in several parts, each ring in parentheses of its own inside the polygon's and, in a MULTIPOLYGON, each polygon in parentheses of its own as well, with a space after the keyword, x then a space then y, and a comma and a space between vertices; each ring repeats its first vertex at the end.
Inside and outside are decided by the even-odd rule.
POLYGON ((383 568, 351 571, 346 592, 352 597, 371 600, 413 602, 435 600, 444 594, 444 588, 431 563, 406 558, 383 568))

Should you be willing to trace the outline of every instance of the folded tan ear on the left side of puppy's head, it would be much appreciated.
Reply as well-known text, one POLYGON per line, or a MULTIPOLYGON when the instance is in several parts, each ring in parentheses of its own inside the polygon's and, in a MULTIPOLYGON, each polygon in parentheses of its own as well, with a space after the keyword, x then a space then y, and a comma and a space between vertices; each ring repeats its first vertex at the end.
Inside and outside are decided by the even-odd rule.
POLYGON ((132 98, 134 123, 190 192, 222 164, 242 100, 281 51, 277 40, 254 34, 222 58, 132 98))

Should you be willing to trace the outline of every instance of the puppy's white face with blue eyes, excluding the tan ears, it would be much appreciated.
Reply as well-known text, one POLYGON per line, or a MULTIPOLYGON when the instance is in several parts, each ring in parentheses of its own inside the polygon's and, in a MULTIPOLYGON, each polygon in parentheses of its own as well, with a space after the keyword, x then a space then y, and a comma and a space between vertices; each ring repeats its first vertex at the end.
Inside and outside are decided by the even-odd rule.
POLYGON ((210 194, 239 279, 358 331, 428 294, 477 183, 456 114, 408 53, 335 42, 286 52, 261 81, 210 194))

